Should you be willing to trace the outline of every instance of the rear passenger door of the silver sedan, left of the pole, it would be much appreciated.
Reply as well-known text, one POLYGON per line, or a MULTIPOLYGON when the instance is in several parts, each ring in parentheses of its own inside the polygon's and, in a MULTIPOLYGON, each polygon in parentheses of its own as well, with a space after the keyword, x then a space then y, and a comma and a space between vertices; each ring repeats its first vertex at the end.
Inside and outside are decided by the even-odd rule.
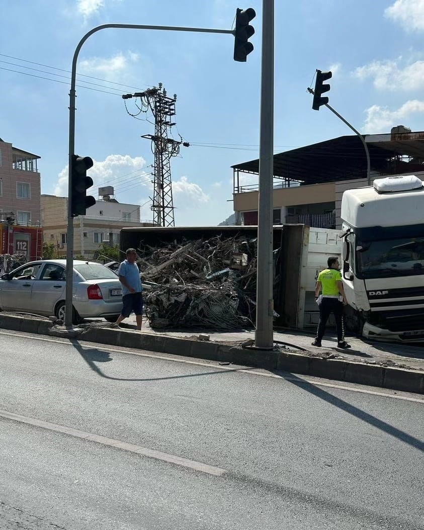
POLYGON ((41 314, 54 315, 56 302, 65 297, 65 284, 65 268, 58 263, 45 263, 32 286, 31 304, 41 314))

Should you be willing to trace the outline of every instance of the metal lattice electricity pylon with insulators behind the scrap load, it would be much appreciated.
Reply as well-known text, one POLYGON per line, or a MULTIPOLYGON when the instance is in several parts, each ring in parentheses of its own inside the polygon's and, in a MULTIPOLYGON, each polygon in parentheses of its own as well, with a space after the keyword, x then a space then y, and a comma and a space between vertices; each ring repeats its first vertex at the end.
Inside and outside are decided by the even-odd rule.
MULTIPOLYGON (((141 112, 151 110, 155 119, 155 134, 146 134, 142 138, 147 138, 152 142, 154 152, 154 180, 153 199, 151 209, 153 210, 153 220, 158 226, 175 226, 174 205, 172 200, 172 178, 171 178, 171 157, 180 154, 181 144, 188 147, 188 142, 174 140, 168 137, 168 131, 175 125, 172 121, 175 116, 176 94, 170 98, 166 94, 162 83, 158 88, 148 89, 135 94, 124 94, 123 100, 136 98, 139 112, 132 114, 127 108, 128 114, 137 117, 141 112)), ((175 120, 175 118, 174 118, 175 120)))

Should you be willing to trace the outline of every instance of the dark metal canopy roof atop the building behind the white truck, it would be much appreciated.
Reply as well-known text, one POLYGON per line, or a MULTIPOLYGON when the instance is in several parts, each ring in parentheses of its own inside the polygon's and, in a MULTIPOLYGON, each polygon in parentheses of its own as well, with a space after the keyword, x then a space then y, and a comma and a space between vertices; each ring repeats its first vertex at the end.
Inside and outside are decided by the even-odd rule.
MULTIPOLYGON (((396 174, 423 171, 424 132, 366 135, 371 170, 396 174), (401 160, 411 157, 412 160, 401 160), (418 159, 418 160, 417 160, 418 159)), ((259 159, 235 164, 233 169, 259 173, 259 159)), ((318 184, 367 177, 367 158, 357 135, 340 136, 274 155, 274 176, 318 184)))

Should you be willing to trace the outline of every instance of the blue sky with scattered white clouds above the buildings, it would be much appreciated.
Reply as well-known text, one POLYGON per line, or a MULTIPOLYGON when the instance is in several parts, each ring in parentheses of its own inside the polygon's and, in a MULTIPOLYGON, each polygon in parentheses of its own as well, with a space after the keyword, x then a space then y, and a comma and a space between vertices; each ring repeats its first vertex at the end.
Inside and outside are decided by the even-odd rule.
MULTIPOLYGON (((258 156, 261 4, 0 0, 0 137, 41 156, 43 193, 66 195, 69 74, 51 67, 70 70, 83 34, 112 22, 231 29, 236 8, 253 7, 247 63, 233 61, 232 36, 108 29, 85 43, 77 69, 104 80, 77 84, 110 92, 77 89, 76 152, 95 160, 95 185, 114 185, 119 201, 152 217, 153 156, 140 136, 153 126, 125 110, 120 95, 135 89, 110 82, 141 90, 162 82, 178 95, 179 133, 208 145, 172 160, 176 224, 218 224, 232 213, 230 166, 258 156)), ((423 130, 423 34, 424 0, 276 0, 275 151, 350 134, 327 109, 312 110, 306 87, 316 68, 332 69, 330 104, 363 133, 423 130)))

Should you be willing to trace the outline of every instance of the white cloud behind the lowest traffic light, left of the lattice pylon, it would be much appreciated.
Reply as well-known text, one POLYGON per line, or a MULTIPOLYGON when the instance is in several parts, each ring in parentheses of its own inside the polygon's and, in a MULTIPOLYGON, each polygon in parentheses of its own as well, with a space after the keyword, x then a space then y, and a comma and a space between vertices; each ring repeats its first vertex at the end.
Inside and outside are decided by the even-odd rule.
MULTIPOLYGON (((115 192, 119 195, 120 189, 122 193, 139 179, 140 185, 151 185, 151 179, 145 175, 140 175, 142 168, 146 161, 141 156, 131 158, 129 155, 109 155, 101 162, 94 161, 93 167, 87 174, 93 179, 94 185, 90 192, 97 195, 97 187, 102 184, 114 186, 115 192), (131 175, 133 173, 133 175, 131 175)), ((59 173, 58 182, 54 190, 55 195, 68 195, 68 166, 59 173)))

